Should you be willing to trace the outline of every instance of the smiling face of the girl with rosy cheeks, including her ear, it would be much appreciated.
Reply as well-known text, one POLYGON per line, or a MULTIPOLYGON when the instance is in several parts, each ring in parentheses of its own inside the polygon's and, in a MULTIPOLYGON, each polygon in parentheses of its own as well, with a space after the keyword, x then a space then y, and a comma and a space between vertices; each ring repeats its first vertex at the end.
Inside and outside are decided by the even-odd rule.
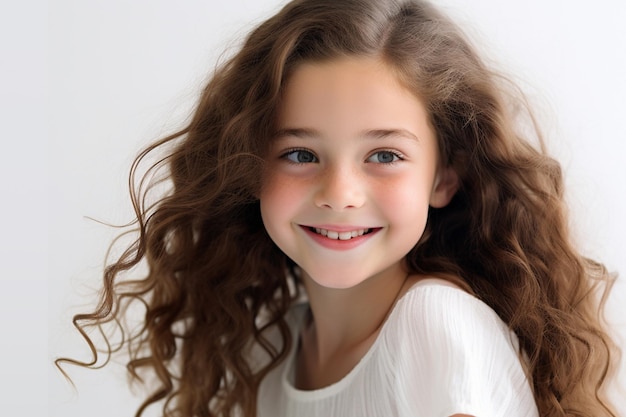
POLYGON ((422 102, 382 62, 300 65, 284 90, 260 194, 276 245, 319 285, 406 274, 429 205, 456 175, 438 166, 422 102))

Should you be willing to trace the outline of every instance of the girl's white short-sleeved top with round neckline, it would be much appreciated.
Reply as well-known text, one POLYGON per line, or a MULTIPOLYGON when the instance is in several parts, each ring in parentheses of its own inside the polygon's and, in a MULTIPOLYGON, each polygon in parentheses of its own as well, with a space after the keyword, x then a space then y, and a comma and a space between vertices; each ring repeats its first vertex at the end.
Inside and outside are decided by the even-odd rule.
MULTIPOLYGON (((297 346, 306 304, 288 322, 297 346)), ((294 387, 295 348, 261 383, 259 417, 536 417, 517 338, 485 303, 438 279, 415 284, 340 381, 294 387)))

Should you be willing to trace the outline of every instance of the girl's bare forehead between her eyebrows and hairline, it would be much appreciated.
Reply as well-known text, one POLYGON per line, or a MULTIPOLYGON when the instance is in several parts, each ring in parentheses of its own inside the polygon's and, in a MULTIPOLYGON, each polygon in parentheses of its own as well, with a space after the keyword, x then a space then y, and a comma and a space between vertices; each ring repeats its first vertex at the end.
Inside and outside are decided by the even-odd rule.
POLYGON ((428 124, 422 100, 376 58, 302 63, 284 85, 279 128, 407 129, 428 124))

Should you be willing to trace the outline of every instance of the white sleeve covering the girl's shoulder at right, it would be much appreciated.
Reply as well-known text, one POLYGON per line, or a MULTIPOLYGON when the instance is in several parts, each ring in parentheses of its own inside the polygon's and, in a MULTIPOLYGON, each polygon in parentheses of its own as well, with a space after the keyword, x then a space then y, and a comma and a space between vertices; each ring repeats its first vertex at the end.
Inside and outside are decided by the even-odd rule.
POLYGON ((517 338, 490 307, 458 288, 425 285, 397 308, 388 349, 400 415, 537 415, 517 338))

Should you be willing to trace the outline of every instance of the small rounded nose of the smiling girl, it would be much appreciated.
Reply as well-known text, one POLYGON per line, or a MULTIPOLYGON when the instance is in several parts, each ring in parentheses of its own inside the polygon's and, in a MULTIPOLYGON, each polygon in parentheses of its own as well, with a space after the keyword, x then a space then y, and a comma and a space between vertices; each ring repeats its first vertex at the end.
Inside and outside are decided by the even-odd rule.
POLYGON ((364 179, 351 167, 328 168, 320 177, 315 192, 315 205, 343 211, 359 208, 365 203, 364 179))

